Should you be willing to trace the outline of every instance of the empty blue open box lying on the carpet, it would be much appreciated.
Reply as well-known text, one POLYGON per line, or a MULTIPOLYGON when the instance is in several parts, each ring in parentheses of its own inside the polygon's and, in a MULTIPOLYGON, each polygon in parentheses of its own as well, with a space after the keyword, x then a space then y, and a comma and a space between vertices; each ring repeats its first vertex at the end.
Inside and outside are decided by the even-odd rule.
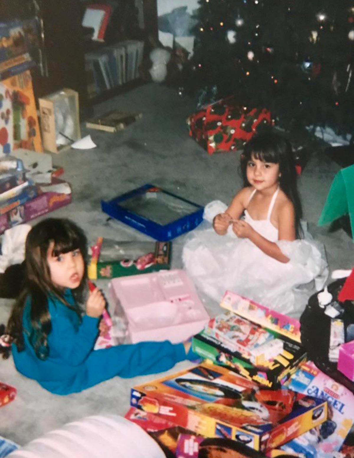
POLYGON ((102 211, 156 240, 171 240, 198 226, 204 207, 146 184, 110 201, 102 211))

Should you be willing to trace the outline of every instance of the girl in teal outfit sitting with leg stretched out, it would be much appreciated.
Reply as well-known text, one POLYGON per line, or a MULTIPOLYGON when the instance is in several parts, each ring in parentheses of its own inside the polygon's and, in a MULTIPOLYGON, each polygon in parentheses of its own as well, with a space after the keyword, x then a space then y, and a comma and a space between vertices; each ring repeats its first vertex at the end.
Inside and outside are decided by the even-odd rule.
POLYGON ((190 343, 143 342, 93 350, 104 297, 89 293, 85 313, 78 303, 87 289, 87 241, 68 219, 48 218, 27 236, 25 286, 12 310, 7 333, 16 369, 56 394, 80 392, 114 376, 166 371, 195 358, 190 343))

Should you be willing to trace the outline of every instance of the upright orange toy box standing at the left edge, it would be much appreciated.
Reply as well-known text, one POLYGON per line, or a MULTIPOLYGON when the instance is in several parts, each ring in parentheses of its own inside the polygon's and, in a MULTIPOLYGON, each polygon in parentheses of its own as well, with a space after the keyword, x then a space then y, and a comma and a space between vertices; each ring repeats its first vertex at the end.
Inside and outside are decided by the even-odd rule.
POLYGON ((42 152, 29 70, 0 82, 0 155, 16 148, 42 152))

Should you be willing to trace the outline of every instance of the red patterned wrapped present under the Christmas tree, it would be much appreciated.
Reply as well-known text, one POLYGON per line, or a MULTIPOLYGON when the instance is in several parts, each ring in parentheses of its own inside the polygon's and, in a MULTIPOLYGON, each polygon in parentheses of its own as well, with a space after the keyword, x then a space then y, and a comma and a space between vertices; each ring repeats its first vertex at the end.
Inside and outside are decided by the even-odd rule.
POLYGON ((262 125, 271 124, 265 108, 241 107, 235 96, 200 109, 187 118, 189 135, 208 154, 242 149, 262 125))

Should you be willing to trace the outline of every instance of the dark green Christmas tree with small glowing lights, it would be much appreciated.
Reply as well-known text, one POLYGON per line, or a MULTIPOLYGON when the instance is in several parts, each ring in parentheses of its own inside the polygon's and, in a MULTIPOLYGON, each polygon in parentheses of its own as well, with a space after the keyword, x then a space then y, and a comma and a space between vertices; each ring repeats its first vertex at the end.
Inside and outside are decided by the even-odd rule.
POLYGON ((288 131, 354 131, 353 0, 199 0, 198 87, 271 110, 288 131))

